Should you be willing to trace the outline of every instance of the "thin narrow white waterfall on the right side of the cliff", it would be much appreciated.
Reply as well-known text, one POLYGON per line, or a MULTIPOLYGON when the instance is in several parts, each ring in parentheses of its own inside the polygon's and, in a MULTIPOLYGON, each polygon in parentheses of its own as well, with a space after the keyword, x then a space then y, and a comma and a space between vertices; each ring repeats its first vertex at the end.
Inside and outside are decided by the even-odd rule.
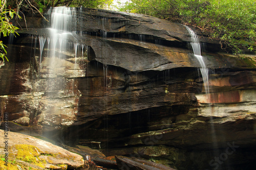
POLYGON ((194 56, 197 58, 197 60, 199 61, 200 65, 201 65, 200 71, 201 71, 201 75, 202 75, 203 82, 204 82, 205 93, 209 94, 209 81, 208 81, 209 69, 206 67, 204 60, 203 60, 203 56, 201 55, 201 44, 199 42, 197 34, 189 27, 187 27, 187 26, 185 26, 185 27, 186 27, 187 31, 189 32, 189 35, 191 36, 190 45, 193 48, 194 56))

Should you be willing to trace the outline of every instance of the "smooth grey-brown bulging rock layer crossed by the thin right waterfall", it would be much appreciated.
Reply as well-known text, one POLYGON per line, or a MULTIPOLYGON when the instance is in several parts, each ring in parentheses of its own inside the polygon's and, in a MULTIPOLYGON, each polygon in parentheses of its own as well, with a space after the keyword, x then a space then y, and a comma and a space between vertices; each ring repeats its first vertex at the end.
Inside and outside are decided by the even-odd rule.
MULTIPOLYGON (((94 55, 90 60, 103 64, 115 65, 130 71, 167 70, 179 67, 201 67, 196 57, 184 48, 157 45, 126 39, 89 39, 85 43, 92 47, 94 55), (103 52, 103 53, 102 53, 103 52), (112 57, 108 57, 112 56, 112 57), (135 57, 136 56, 136 57, 135 57)), ((207 68, 256 67, 254 58, 241 59, 238 56, 215 55, 204 56, 207 68), (249 60, 247 62, 247 60, 249 60), (250 63, 248 65, 248 63, 250 63)))

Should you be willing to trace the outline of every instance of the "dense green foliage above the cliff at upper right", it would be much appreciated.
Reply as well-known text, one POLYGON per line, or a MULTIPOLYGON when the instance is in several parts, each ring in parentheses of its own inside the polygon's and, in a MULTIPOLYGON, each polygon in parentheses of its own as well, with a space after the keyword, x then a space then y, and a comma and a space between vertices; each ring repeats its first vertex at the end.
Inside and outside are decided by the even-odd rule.
POLYGON ((235 54, 256 51, 256 3, 251 0, 131 0, 120 10, 198 27, 235 54))

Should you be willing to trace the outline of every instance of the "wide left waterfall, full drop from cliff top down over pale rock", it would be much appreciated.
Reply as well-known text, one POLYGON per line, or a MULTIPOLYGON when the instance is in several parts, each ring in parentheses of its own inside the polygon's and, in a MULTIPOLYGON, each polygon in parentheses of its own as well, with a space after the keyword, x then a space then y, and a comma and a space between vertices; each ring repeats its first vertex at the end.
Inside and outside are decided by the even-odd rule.
MULTIPOLYGON (((79 42, 77 38, 79 35, 76 34, 78 32, 76 22, 74 22, 77 19, 77 12, 79 11, 75 8, 66 7, 49 9, 45 14, 49 20, 48 28, 45 29, 45 34, 38 36, 40 47, 38 76, 40 79, 38 82, 35 80, 35 88, 44 91, 40 96, 43 101, 42 106, 45 106, 41 109, 41 116, 52 119, 42 118, 42 125, 54 126, 56 119, 63 116, 68 118, 61 119, 61 125, 71 125, 75 121, 78 105, 76 98, 81 94, 77 89, 76 78, 86 75, 83 71, 86 63, 80 64, 80 61, 86 59, 86 53, 89 51, 88 46, 79 42), (74 108, 69 109, 70 105, 74 108)), ((35 37, 35 45, 36 39, 37 37, 35 37)), ((44 134, 45 137, 48 135, 44 134)))

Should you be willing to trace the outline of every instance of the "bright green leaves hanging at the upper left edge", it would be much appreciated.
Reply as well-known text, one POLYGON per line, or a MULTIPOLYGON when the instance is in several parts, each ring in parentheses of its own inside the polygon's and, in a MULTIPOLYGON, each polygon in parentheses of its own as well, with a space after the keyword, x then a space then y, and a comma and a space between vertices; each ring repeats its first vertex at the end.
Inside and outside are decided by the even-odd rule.
MULTIPOLYGON (((0 4, 0 36, 3 34, 4 37, 9 36, 9 34, 17 34, 15 30, 17 30, 17 27, 14 27, 12 25, 12 22, 10 22, 10 19, 13 18, 15 11, 11 9, 5 8, 5 2, 4 0, 1 0, 0 4)), ((5 61, 5 59, 8 61, 8 58, 6 57, 7 51, 5 49, 7 47, 5 44, 3 44, 3 41, 0 41, 0 57, 5 61)))

